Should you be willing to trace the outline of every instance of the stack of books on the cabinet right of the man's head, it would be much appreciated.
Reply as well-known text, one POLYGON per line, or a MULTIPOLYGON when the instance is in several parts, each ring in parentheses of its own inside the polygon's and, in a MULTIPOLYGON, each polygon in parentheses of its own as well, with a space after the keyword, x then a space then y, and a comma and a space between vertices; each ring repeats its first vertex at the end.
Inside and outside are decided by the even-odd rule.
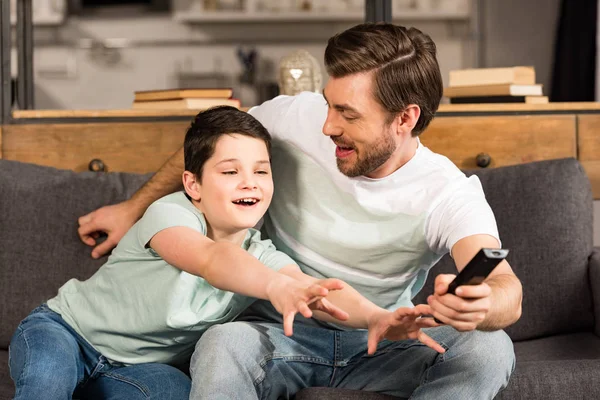
POLYGON ((444 96, 452 104, 548 103, 533 67, 475 68, 450 71, 444 96))

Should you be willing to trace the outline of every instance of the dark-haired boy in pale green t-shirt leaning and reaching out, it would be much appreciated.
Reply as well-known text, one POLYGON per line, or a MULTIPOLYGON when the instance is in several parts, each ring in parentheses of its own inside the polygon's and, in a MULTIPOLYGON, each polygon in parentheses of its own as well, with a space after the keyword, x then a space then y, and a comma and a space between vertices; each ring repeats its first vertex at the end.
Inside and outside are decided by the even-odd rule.
POLYGON ((322 299, 341 281, 276 272, 298 267, 252 229, 273 195, 266 129, 218 107, 198 114, 184 147, 185 192, 153 203, 90 279, 70 280, 21 322, 10 344, 15 399, 187 399, 176 367, 208 327, 254 301, 245 296, 271 301, 288 335, 309 307, 348 317, 322 299))

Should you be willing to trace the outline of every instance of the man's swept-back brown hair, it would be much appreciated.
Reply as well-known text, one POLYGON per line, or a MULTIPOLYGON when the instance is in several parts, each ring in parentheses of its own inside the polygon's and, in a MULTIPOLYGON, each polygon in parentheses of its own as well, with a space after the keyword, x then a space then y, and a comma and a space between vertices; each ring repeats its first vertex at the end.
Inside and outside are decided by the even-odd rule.
POLYGON ((427 128, 443 93, 435 43, 415 28, 386 23, 357 25, 329 39, 325 67, 334 78, 374 71, 373 95, 387 123, 409 104, 421 108, 412 135, 427 128))

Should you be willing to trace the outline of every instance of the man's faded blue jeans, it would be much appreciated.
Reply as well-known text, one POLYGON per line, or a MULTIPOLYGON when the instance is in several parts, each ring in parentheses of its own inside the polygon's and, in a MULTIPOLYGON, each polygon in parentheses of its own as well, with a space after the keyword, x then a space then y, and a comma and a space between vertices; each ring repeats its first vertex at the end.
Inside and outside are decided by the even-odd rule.
POLYGON ((491 399, 514 369, 512 341, 504 331, 428 328, 445 354, 402 340, 384 341, 368 355, 366 331, 307 321, 296 322, 293 336, 286 337, 280 322, 264 321, 264 304, 254 308, 263 321, 215 325, 202 336, 190 366, 191 399, 288 399, 311 386, 411 399, 491 399))

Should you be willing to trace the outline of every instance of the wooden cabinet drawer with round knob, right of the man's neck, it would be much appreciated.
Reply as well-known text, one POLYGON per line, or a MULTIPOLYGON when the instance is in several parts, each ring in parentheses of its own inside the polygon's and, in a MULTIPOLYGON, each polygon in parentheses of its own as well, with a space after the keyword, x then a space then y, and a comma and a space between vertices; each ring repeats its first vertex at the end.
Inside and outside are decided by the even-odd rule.
POLYGON ((476 157, 489 155, 489 167, 577 157, 575 115, 437 117, 421 140, 461 169, 478 168, 476 157))

